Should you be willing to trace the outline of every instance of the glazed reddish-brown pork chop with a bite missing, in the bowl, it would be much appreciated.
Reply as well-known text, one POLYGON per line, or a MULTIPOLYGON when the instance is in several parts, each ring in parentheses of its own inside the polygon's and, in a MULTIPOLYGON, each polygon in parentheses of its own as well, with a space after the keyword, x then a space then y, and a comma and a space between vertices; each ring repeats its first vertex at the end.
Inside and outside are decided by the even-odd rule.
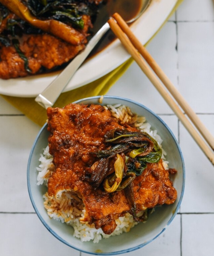
MULTIPOLYGON (((106 132, 124 127, 112 117, 111 112, 100 105, 69 104, 64 108, 47 109, 49 153, 53 155, 55 171, 48 179, 49 196, 59 196, 63 191, 74 191, 85 204, 81 222, 94 224, 105 234, 116 228, 115 220, 132 211, 124 190, 106 192, 100 185, 85 180, 85 170, 97 161, 92 152, 104 150, 109 145, 104 142, 106 132)), ((151 163, 133 181, 136 212, 164 203, 171 204, 177 198, 177 191, 169 179, 162 160, 151 163)))

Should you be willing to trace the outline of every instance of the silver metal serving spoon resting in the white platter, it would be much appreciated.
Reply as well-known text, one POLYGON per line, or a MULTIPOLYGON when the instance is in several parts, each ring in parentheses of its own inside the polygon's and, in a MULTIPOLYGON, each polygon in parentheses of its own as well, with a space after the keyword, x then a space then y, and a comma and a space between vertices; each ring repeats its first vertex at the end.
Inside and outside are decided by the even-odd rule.
MULTIPOLYGON (((147 9, 152 0, 141 0, 141 8, 135 17, 126 20, 126 22, 132 23, 137 20, 142 13, 147 9)), ((133 0, 128 0, 130 4, 133 3, 133 0)), ((127 2, 127 3, 128 3, 127 2)), ((113 10, 114 12, 120 12, 117 9, 113 10)), ((113 13, 114 13, 113 12, 113 13)), ((113 14, 111 13, 111 14, 113 14)), ((110 29, 109 23, 106 22, 96 34, 89 40, 85 49, 78 54, 70 64, 35 98, 35 101, 44 108, 53 106, 55 101, 58 99, 59 95, 66 87, 72 76, 75 74, 77 69, 81 66, 83 61, 87 58, 89 53, 96 46, 98 41, 102 36, 110 29)))

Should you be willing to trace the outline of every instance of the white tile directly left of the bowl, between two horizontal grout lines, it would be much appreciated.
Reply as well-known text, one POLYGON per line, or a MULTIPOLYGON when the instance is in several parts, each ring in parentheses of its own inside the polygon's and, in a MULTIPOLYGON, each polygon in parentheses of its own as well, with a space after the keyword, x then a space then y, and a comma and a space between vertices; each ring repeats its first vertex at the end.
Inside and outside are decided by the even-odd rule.
POLYGON ((33 211, 27 192, 27 161, 40 127, 25 116, 0 116, 0 212, 33 211), (30 129, 29 129, 30 127, 30 129))

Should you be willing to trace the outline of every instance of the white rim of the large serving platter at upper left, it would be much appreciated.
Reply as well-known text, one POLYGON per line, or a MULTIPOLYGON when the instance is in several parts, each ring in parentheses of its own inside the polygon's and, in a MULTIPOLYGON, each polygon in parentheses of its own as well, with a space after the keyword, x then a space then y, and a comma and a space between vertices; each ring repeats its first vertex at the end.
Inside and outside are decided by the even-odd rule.
MULTIPOLYGON (((175 6, 177 0, 152 0, 148 9, 132 25, 132 31, 142 44, 158 31, 175 6)), ((64 91, 70 91, 92 82, 108 74, 129 58, 119 40, 114 41, 108 48, 83 64, 72 77, 64 91)), ((35 97, 57 76, 57 72, 45 75, 29 76, 2 80, 0 93, 17 97, 35 97)))

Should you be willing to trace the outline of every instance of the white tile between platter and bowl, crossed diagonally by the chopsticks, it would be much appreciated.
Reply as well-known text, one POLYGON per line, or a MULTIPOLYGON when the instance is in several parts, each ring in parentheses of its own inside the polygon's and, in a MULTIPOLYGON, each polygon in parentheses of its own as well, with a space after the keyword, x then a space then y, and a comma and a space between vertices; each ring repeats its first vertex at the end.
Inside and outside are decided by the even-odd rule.
MULTIPOLYGON (((176 51, 176 25, 168 22, 156 35, 147 47, 150 54, 155 57, 159 66, 164 70, 170 80, 177 86, 176 51), (160 50, 161 49, 161 50, 160 50)), ((134 62, 129 72, 116 82, 109 90, 108 95, 120 95, 136 100, 156 113, 172 113, 171 108, 162 99, 159 92, 134 62), (130 74, 132 74, 130 76, 130 74), (139 93, 139 91, 141 93, 139 93), (157 100, 158 99, 158 100, 157 100)))

